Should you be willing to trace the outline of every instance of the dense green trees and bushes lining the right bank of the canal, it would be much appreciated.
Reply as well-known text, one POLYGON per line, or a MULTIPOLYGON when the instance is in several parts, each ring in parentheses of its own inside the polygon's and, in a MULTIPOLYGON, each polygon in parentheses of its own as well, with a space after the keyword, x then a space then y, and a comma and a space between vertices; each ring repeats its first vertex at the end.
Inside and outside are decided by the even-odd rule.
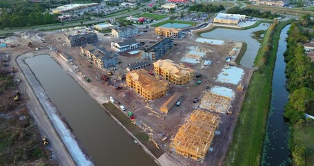
POLYGON ((313 26, 314 21, 309 15, 300 17, 291 24, 286 39, 284 58, 290 95, 284 117, 290 124, 288 147, 293 165, 314 164, 314 120, 305 117, 305 113, 314 112, 314 65, 302 45, 313 39, 313 26))

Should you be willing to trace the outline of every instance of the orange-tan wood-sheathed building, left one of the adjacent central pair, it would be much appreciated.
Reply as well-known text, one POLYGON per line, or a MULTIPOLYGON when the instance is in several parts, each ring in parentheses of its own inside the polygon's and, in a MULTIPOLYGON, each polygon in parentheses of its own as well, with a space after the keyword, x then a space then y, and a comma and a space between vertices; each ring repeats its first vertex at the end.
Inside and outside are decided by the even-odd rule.
POLYGON ((168 82, 159 80, 144 69, 127 73, 126 83, 146 100, 161 98, 169 90, 168 82))

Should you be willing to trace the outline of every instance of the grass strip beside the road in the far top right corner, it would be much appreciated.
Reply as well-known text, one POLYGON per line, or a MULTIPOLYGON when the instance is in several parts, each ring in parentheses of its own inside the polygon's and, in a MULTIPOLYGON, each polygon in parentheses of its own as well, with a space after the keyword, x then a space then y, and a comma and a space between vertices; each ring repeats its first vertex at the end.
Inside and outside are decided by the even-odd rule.
POLYGON ((246 8, 251 9, 257 9, 257 10, 263 10, 263 11, 271 11, 271 12, 277 12, 280 14, 286 14, 286 15, 311 15, 314 16, 314 12, 312 8, 279 8, 279 7, 273 7, 273 6, 255 6, 251 4, 246 4, 246 8))

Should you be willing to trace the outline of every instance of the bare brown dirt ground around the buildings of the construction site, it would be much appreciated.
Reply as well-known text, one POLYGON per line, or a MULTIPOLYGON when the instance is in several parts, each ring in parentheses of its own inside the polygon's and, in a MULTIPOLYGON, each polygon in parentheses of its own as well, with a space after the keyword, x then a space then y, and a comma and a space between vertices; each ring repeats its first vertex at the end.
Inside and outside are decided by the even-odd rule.
MULTIPOLYGON (((140 33, 135 37, 138 42, 146 42, 146 45, 151 45, 150 42, 157 42, 158 39, 154 35, 154 29, 147 29, 148 33, 140 33)), ((47 32, 43 37, 45 38, 46 43, 42 43, 37 37, 35 37, 35 33, 31 33, 32 37, 30 37, 30 41, 34 46, 41 46, 43 48, 47 48, 47 46, 53 46, 59 52, 68 53, 68 55, 72 56, 73 64, 69 62, 62 62, 63 59, 59 57, 57 54, 52 53, 52 57, 54 57, 57 62, 63 68, 71 68, 72 77, 82 77, 86 75, 90 78, 90 82, 81 82, 81 86, 88 86, 92 89, 97 89, 98 93, 93 93, 92 98, 95 98, 98 102, 107 102, 109 96, 118 100, 121 104, 123 104, 128 111, 132 111, 137 120, 141 120, 148 127, 153 129, 153 132, 148 131, 148 135, 152 136, 154 140, 158 143, 161 149, 168 152, 169 156, 172 156, 179 163, 184 165, 222 165, 224 160, 224 156, 226 154, 226 150, 228 149, 228 144, 232 140, 233 129, 235 127, 235 122, 237 120, 237 113, 242 106, 242 101, 244 99, 244 94, 246 93, 246 87, 251 79, 252 71, 248 68, 244 69, 244 75, 242 76, 241 83, 246 87, 244 91, 237 91, 237 85, 235 84, 226 84, 222 82, 217 82, 217 75, 221 72, 224 65, 226 65, 226 57, 230 53, 230 51, 235 47, 241 47, 242 44, 239 42, 226 42, 224 45, 210 45, 210 44, 202 44, 195 42, 196 37, 185 37, 184 39, 175 40, 175 46, 167 51, 166 55, 161 57, 161 59, 172 59, 175 63, 181 63, 181 57, 184 57, 186 53, 190 50, 191 46, 198 47, 199 50, 206 50, 208 53, 204 57, 203 60, 210 60, 213 63, 206 68, 206 70, 201 70, 202 62, 198 64, 190 64, 190 66, 186 66, 186 63, 182 63, 182 65, 190 68, 190 71, 202 73, 202 77, 196 78, 193 77, 193 80, 189 84, 175 86, 170 84, 170 91, 166 96, 160 98, 158 100, 147 101, 144 98, 141 98, 133 89, 130 89, 125 82, 120 81, 117 77, 123 73, 127 73, 126 66, 131 63, 135 63, 139 60, 142 60, 140 55, 130 55, 128 53, 123 53, 119 55, 118 61, 121 61, 121 64, 118 64, 116 67, 118 68, 115 71, 114 75, 110 76, 110 80, 108 82, 102 82, 100 80, 101 75, 106 75, 108 70, 97 68, 96 66, 91 66, 88 59, 84 59, 80 55, 80 51, 78 47, 69 48, 68 46, 63 46, 63 43, 66 43, 66 35, 63 32, 47 32), (202 81, 201 84, 193 86, 195 82, 198 80, 202 81), (82 84, 83 83, 83 84, 82 84), (218 128, 220 131, 219 135, 215 135, 213 144, 213 151, 208 153, 206 156, 204 163, 199 163, 192 159, 181 160, 183 156, 170 153, 170 141, 171 138, 175 136, 177 130, 184 124, 186 118, 190 116, 190 113, 194 109, 199 108, 199 102, 193 103, 195 98, 201 100, 204 93, 206 92, 206 86, 225 86, 227 88, 233 89, 235 92, 235 98, 233 99, 232 108, 230 111, 231 114, 222 114, 218 113, 221 117, 221 124, 218 128), (116 90, 115 86, 122 86, 123 89, 116 90), (179 107, 173 107, 167 115, 164 115, 159 111, 161 104, 163 104, 169 97, 175 92, 179 92, 183 94, 183 98, 179 101, 181 104, 179 107), (101 100, 100 100, 101 99, 101 100), (164 117, 164 118, 162 118, 164 117), (164 120, 162 120, 164 119, 164 120), (162 138, 167 137, 168 139, 162 141, 162 138)), ((118 41, 117 39, 113 39, 110 36, 104 36, 99 34, 99 45, 105 46, 106 48, 110 48, 111 41, 118 41)), ((242 68, 241 66, 238 66, 242 68)), ((146 68, 146 70, 150 71, 153 67, 146 68)), ((81 79, 82 80, 82 79, 81 79)), ((126 112, 127 113, 127 112, 126 112)), ((157 158, 159 156, 156 156, 157 158)))

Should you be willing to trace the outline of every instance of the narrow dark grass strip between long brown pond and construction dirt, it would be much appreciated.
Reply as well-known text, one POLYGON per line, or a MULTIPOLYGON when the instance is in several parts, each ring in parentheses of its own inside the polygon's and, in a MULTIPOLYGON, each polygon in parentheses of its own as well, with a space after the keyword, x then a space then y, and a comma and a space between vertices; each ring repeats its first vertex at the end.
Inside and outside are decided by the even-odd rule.
POLYGON ((133 135, 139 141, 141 141, 141 143, 144 144, 145 147, 149 149, 150 152, 152 152, 156 158, 159 158, 162 154, 164 154, 164 151, 161 149, 157 149, 155 144, 152 141, 149 141, 149 136, 146 133, 144 133, 144 131, 141 131, 141 129, 139 129, 137 125, 133 124, 122 111, 115 107, 114 104, 108 102, 102 105, 106 108, 106 110, 108 110, 112 114, 112 116, 117 118, 117 120, 119 120, 119 122, 121 122, 121 124, 123 124, 124 127, 128 129, 128 131, 133 133, 133 135))

